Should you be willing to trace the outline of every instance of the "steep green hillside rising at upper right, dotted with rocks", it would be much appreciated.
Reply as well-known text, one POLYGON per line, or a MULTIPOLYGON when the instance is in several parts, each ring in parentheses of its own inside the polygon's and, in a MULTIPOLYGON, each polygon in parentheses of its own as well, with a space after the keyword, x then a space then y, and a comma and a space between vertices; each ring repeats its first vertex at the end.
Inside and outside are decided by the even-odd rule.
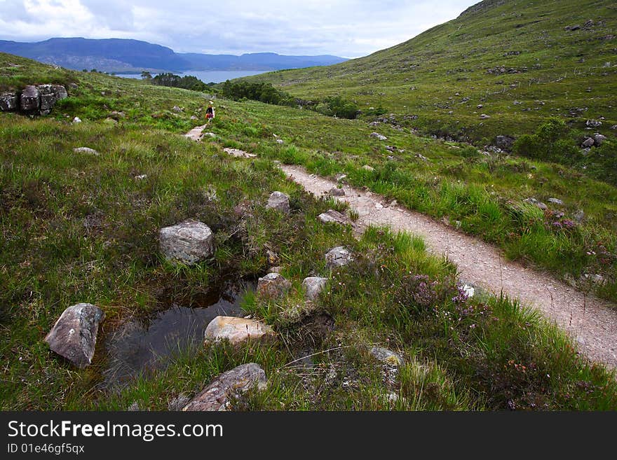
POLYGON ((499 134, 534 132, 550 117, 581 130, 601 119, 596 130, 614 137, 616 77, 613 1, 485 0, 367 57, 247 80, 304 99, 341 95, 367 119, 381 107, 399 124, 489 144, 499 134))

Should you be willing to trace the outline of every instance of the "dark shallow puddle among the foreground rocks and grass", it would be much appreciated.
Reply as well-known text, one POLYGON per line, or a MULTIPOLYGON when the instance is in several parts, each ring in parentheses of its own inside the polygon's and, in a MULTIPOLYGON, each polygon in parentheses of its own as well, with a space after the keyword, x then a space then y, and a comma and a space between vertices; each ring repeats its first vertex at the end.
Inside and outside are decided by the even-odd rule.
POLYGON ((246 293, 255 291, 252 281, 229 284, 208 307, 172 305, 147 319, 134 319, 119 327, 106 340, 109 367, 104 386, 122 386, 142 372, 165 368, 175 356, 200 347, 208 323, 216 316, 241 316, 246 293))

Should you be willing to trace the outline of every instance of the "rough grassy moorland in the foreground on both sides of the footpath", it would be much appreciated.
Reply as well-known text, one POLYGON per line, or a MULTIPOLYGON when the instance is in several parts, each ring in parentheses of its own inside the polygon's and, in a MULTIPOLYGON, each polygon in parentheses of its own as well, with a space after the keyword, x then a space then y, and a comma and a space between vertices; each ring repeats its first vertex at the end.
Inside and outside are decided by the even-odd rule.
MULTIPOLYGON (((3 84, 18 86, 27 76, 26 83, 53 79, 49 67, 16 59, 0 55, 3 84), (7 76, 11 64, 21 66, 20 76, 7 76)), ((272 160, 303 162, 324 174, 348 172, 352 183, 365 181, 412 205, 423 203, 428 212, 461 212, 466 228, 487 225, 495 213, 505 212, 502 193, 560 190, 563 174, 569 174, 560 167, 484 158, 462 144, 409 137, 388 127, 384 134, 405 150, 395 153, 406 160, 398 170, 360 120, 222 99, 210 127, 217 138, 198 144, 181 134, 203 123, 208 99, 201 93, 102 74, 60 76, 76 87, 51 116, 0 114, 1 409, 165 410, 178 396, 193 396, 220 372, 246 362, 262 365, 269 385, 235 401, 235 409, 617 408, 614 375, 587 363, 559 330, 513 299, 465 298, 456 288, 456 267, 428 254, 419 239, 370 229, 356 241, 351 228, 320 224, 321 212, 343 209, 308 196, 272 160), (71 123, 74 116, 83 123, 71 123), (100 155, 73 151, 81 146, 100 155), (224 146, 259 157, 232 158, 224 146), (467 155, 477 181, 487 180, 491 171, 501 174, 494 179, 496 195, 473 183, 456 185, 439 172, 465 168, 467 155), (365 162, 375 171, 362 169, 365 162), (528 184, 527 174, 545 180, 528 184), (429 183, 429 176, 436 179, 429 183), (398 181, 418 188, 397 188, 398 181), (511 190, 521 189, 500 188, 508 182, 511 190), (265 208, 273 190, 290 195, 290 216, 265 208), (158 253, 158 230, 185 218, 214 230, 212 260, 177 267, 158 253), (323 254, 341 244, 353 251, 355 262, 331 272, 323 254), (292 289, 278 300, 248 293, 242 308, 271 324, 276 340, 181 349, 166 367, 124 386, 105 384, 112 358, 107 345, 124 324, 147 323, 172 304, 208 305, 230 277, 262 276, 269 267, 267 251, 276 253, 292 289), (304 301, 301 288, 309 275, 330 278, 313 304, 304 301), (95 303, 107 316, 93 365, 84 370, 43 342, 59 314, 76 302, 95 303), (375 344, 398 351, 405 364, 398 370, 381 365, 368 352, 375 344)), ((599 223, 598 216, 614 191, 578 179, 593 193, 572 192, 568 206, 584 206, 589 223, 573 237, 545 232, 544 238, 582 251, 585 238, 604 237, 602 225, 613 225, 599 223)), ((513 238, 522 235, 513 228, 513 238)))

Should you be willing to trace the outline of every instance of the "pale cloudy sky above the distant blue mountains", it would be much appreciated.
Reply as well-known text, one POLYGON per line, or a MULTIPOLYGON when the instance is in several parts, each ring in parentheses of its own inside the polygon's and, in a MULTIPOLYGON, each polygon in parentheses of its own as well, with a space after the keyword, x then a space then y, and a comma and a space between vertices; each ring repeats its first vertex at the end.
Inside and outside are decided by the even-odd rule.
POLYGON ((179 53, 360 57, 480 0, 0 0, 0 39, 137 39, 179 53))

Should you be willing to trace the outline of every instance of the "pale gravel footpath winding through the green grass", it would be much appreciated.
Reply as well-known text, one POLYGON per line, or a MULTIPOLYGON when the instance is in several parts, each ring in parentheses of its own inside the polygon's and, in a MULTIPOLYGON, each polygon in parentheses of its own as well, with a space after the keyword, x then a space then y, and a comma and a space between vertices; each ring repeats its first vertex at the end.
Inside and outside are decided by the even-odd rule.
MULTIPOLYGON (((198 130, 196 127, 191 132, 198 130)), ((190 133, 189 133, 190 134, 190 133)), ((191 139, 199 140, 199 130, 191 139)), ((280 165, 287 177, 316 197, 329 193, 337 183, 309 174, 302 167, 280 165)), ((501 250, 454 230, 405 207, 390 206, 384 197, 350 186, 343 187, 345 196, 334 197, 358 211, 355 225, 388 226, 423 237, 428 249, 444 254, 459 268, 461 279, 538 309, 578 342, 578 349, 590 360, 617 368, 617 309, 610 302, 586 295, 550 274, 506 262, 501 250)))

